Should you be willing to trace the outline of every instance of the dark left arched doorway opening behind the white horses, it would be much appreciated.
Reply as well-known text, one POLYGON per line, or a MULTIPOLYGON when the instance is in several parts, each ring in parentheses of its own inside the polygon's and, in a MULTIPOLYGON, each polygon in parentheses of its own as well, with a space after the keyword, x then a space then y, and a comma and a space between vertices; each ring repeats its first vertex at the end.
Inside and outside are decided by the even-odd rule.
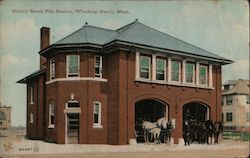
POLYGON ((168 106, 164 102, 146 99, 135 103, 135 131, 137 142, 144 142, 142 121, 156 122, 159 118, 168 119, 168 106))

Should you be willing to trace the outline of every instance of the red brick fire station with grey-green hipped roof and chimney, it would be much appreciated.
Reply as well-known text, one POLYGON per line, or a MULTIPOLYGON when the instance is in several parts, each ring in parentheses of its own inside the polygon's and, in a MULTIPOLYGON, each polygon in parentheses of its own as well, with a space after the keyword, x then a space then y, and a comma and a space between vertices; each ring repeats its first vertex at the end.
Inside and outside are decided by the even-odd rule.
POLYGON ((221 66, 231 60, 140 23, 87 23, 50 45, 41 28, 40 69, 27 84, 27 136, 58 144, 128 144, 142 119, 184 114, 221 120, 221 66))

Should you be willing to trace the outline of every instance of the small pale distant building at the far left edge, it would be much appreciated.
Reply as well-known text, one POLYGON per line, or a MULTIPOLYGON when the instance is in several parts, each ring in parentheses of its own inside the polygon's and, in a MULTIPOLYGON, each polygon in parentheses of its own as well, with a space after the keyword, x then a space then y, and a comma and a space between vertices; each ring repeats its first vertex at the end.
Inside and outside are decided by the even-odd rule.
POLYGON ((11 128, 11 107, 0 104, 0 130, 10 130, 11 128))

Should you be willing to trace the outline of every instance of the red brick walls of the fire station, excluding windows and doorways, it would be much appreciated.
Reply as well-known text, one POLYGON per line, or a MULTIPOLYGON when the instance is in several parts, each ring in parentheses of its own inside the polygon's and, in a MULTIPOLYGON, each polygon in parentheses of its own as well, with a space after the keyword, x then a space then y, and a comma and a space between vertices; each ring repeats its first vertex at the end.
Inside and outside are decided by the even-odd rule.
MULTIPOLYGON (((211 66, 208 71, 212 70, 209 72, 212 79, 207 80, 212 81, 212 84, 209 83, 212 87, 170 84, 168 81, 143 81, 136 79, 138 51, 149 56, 155 53, 165 55, 163 58, 166 59, 168 67, 169 55, 163 52, 116 44, 105 50, 91 47, 55 49, 53 53, 46 55, 46 70, 25 81, 28 84, 27 136, 58 144, 67 143, 66 106, 69 101, 79 103, 80 144, 128 144, 130 139, 135 139, 135 105, 142 100, 156 100, 167 106, 168 118, 176 120, 174 143, 178 143, 179 138, 182 138, 183 106, 188 103, 205 105, 208 107, 209 119, 221 120, 221 63, 200 60, 211 66), (70 54, 80 57, 79 76, 76 78, 67 77, 67 55, 70 54), (102 56, 102 78, 95 78, 95 55, 102 56), (50 79, 52 58, 55 61, 54 79, 50 79), (34 87, 32 104, 30 85, 34 87), (101 103, 100 128, 93 127, 93 105, 96 101, 101 103), (52 102, 55 104, 53 127, 49 126, 49 106, 52 102), (30 122, 31 113, 34 114, 33 122, 30 122)), ((186 59, 181 55, 177 57, 179 60, 186 59)), ((45 61, 44 58, 41 59, 41 62, 45 61)), ((197 58, 193 61, 200 62, 197 58)))

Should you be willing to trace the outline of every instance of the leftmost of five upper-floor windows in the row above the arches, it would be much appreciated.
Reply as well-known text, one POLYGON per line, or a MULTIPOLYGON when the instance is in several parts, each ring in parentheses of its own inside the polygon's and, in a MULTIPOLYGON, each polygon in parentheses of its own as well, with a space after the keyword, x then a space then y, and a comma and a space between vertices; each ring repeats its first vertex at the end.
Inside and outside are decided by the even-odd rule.
POLYGON ((140 56, 140 78, 150 78, 150 57, 140 56))

